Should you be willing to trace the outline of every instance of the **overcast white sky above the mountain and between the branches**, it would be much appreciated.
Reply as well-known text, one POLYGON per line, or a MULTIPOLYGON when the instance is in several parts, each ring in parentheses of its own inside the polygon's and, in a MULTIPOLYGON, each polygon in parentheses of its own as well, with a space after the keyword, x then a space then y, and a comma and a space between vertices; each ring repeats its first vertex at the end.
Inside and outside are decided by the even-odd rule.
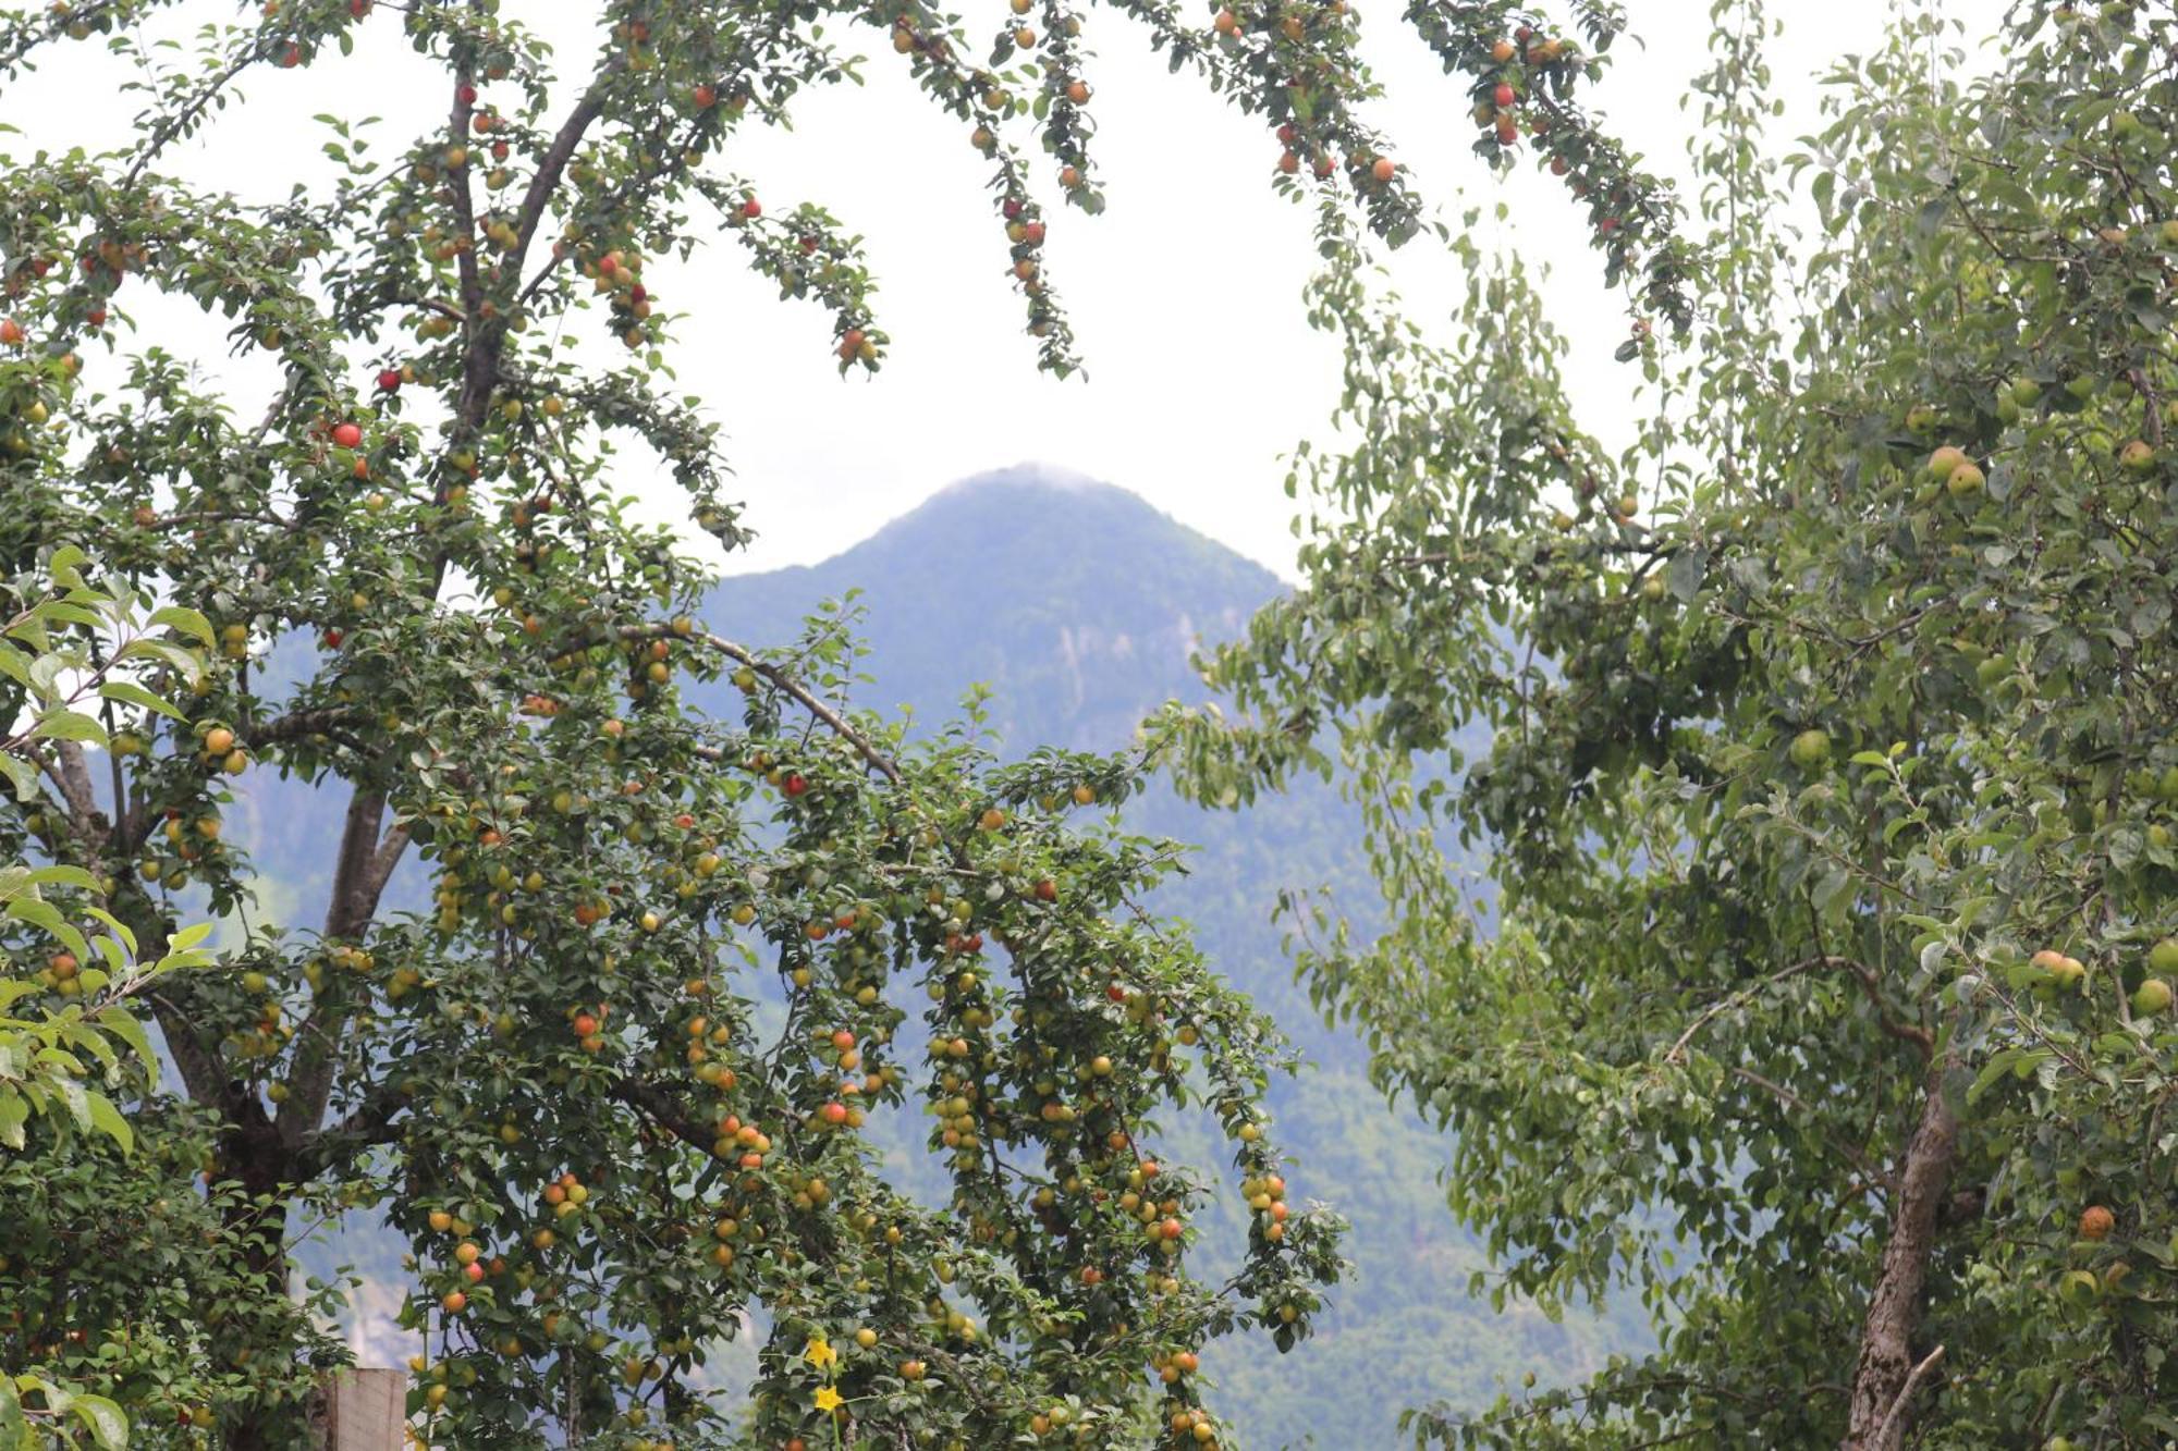
MULTIPOLYGON (((1899 2, 1921 4, 1771 2, 1786 22, 1771 48, 1786 102, 1779 144, 1812 129, 1819 76, 1836 57, 1873 48, 1899 2)), ((590 41, 566 17, 592 7, 505 4, 564 33, 571 68, 586 63, 590 41)), ((2004 9, 2002 0, 1930 4, 1967 22, 1973 37, 1989 35, 2004 9)), ((1002 0, 965 9, 971 28, 993 28, 1002 0)), ((1207 22, 1213 7, 1191 9, 1207 22)), ((1644 48, 1623 41, 1592 102, 1651 168, 1677 174, 1690 124, 1679 96, 1705 63, 1708 4, 1631 0, 1627 9, 1644 48)), ((235 9, 200 2, 183 13, 200 22, 235 9)), ((1559 183, 1527 166, 1509 183, 1494 181, 1468 153, 1461 87, 1400 35, 1396 7, 1361 0, 1361 17, 1390 92, 1376 120, 1398 159, 1455 224, 1466 205, 1512 205, 1514 224, 1496 244, 1553 268, 1557 320, 1575 342, 1577 397, 1605 423, 1623 416, 1636 377, 1612 364, 1610 351, 1625 336, 1625 316, 1601 285, 1581 216, 1559 183)), ((176 166, 198 183, 279 196, 298 176, 325 174, 322 137, 307 124, 316 111, 401 118, 388 142, 407 139, 416 115, 442 109, 442 83, 416 65, 396 13, 372 15, 364 33, 348 61, 253 76, 248 105, 224 113, 176 166)), ((727 161, 758 181, 769 205, 821 200, 865 233, 882 281, 878 309, 893 336, 882 375, 841 381, 828 318, 780 303, 741 270, 738 248, 714 248, 686 275, 651 279, 666 305, 690 314, 677 327, 680 381, 723 420, 760 534, 730 566, 821 560, 958 477, 1041 460, 1126 486, 1289 573, 1281 455, 1322 431, 1337 357, 1302 318, 1311 216, 1272 194, 1276 142, 1263 124, 1198 81, 1167 74, 1117 15, 1089 15, 1111 205, 1100 218, 1052 209, 1048 275, 1072 307, 1089 364, 1087 381, 1054 381, 1035 370, 1019 331, 980 157, 958 122, 919 102, 873 33, 854 37, 871 52, 869 87, 806 94, 793 133, 751 131, 727 161)), ((24 133, 0 135, 0 150, 118 144, 135 111, 115 98, 120 78, 91 46, 54 52, 37 76, 0 94, 0 124, 24 133)), ((1451 266, 1418 242, 1400 261, 1400 288, 1442 303, 1457 283, 1451 266)), ((673 490, 658 492, 664 501, 673 490)))

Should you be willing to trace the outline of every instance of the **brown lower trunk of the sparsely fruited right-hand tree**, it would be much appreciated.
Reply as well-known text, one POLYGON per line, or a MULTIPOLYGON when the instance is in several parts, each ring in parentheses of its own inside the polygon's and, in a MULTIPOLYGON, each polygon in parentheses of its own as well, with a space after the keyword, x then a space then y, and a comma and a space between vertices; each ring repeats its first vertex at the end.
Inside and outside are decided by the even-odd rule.
POLYGON ((1925 1373, 1941 1355, 1938 1349, 1917 1364, 1912 1338, 1921 1327, 1921 1290, 1936 1248, 1936 1216, 1958 1161, 1958 1113, 1943 1094, 1949 1065, 1949 1057, 1930 1063, 1921 1122, 1899 1161, 1891 1194, 1891 1242, 1860 1322, 1860 1364, 1853 1368, 1843 1451, 1895 1451, 1906 1438, 1908 1401, 1919 1390, 1917 1370, 1925 1373))

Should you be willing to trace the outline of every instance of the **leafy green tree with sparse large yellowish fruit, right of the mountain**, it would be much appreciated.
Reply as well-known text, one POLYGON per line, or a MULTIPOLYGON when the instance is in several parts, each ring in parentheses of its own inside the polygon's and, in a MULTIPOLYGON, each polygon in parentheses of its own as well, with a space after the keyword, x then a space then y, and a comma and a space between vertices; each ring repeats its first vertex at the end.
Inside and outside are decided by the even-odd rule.
POLYGON ((1359 442, 1296 460, 1239 715, 1165 743, 1207 800, 1346 782, 1387 926, 1296 895, 1307 980, 1455 1135, 1496 1294, 1655 1314, 1420 1436, 2161 1447, 2178 22, 2019 4, 1962 81, 1901 7, 1779 146, 1764 7, 1712 13, 1631 442, 1516 259, 1442 336, 1335 270, 1359 442))

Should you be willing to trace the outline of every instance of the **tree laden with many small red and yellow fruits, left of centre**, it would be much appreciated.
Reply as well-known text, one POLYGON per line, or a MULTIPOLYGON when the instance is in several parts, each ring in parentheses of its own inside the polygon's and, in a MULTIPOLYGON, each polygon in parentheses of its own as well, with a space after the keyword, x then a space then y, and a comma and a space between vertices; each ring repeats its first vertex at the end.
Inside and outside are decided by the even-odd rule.
MULTIPOLYGON (((730 166, 804 87, 867 65, 841 48, 858 33, 989 157, 993 272, 1041 366, 1074 366, 1041 196, 1100 207, 1082 13, 1013 0, 971 37, 919 0, 612 0, 560 72, 527 9, 0 13, 0 76, 87 41, 144 96, 120 155, 4 163, 0 560, 81 540, 200 614, 213 656, 146 684, 183 717, 107 702, 105 752, 59 741, 0 813, 11 852, 78 871, 83 911, 146 956, 200 906, 235 932, 152 993, 181 1094, 137 1120, 200 1170, 192 1203, 233 1253, 135 1270, 144 1301, 203 1307, 205 1338, 187 1388, 111 1392, 189 1444, 290 1444, 318 1355, 294 1242, 375 1209, 412 1246, 412 1410, 444 1444, 1215 1444, 1200 1346, 1305 1338, 1337 1224, 1268 1135, 1274 1033, 1135 906, 1176 865, 1109 819, 1143 763, 910 741, 845 699, 836 625, 767 656, 714 632, 701 566, 614 497, 653 468, 743 540, 717 425, 671 390, 656 259, 725 240, 819 307, 843 373, 882 366, 845 224, 730 166), (272 205, 172 170, 183 142, 235 144, 207 122, 248 105, 244 81, 307 85, 364 28, 436 76, 407 135, 327 122, 329 166, 272 205), (150 320, 174 307, 266 392, 163 346, 150 320), (327 841, 253 861, 237 821, 322 793, 327 841), (274 919, 268 876, 316 882, 322 911, 274 919), (1222 1283, 1191 1272, 1213 1179, 1157 1150, 1161 1118, 1198 1107, 1252 1207, 1222 1283), (932 1120, 943 1209, 865 1137, 908 1111, 932 1120), (734 1333, 762 1340, 741 1416, 703 1368, 734 1333)), ((1115 9, 1276 131, 1272 179, 1326 235, 1422 231, 1361 115, 1344 0, 1115 9)), ((1614 7, 1577 13, 1586 44, 1501 0, 1411 20, 1472 87, 1481 150, 1509 161, 1531 133, 1605 266, 1684 320, 1673 200, 1577 100, 1614 7)), ((33 1009, 63 996, 39 987, 33 1009)), ((0 1285, 74 1283, 54 1264, 0 1285)), ((54 1294, 46 1314, 91 1329, 137 1316, 54 1294)))

